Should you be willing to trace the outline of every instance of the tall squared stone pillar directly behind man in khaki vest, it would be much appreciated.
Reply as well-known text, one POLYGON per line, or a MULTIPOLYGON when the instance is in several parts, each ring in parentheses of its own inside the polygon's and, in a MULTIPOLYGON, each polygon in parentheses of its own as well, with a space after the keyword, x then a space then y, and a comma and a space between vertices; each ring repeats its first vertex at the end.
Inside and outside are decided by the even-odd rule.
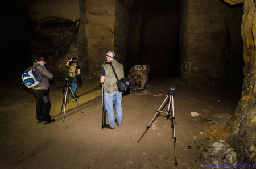
POLYGON ((115 52, 117 61, 125 60, 130 15, 125 3, 117 0, 87 0, 85 9, 89 76, 99 77, 109 50, 115 52))

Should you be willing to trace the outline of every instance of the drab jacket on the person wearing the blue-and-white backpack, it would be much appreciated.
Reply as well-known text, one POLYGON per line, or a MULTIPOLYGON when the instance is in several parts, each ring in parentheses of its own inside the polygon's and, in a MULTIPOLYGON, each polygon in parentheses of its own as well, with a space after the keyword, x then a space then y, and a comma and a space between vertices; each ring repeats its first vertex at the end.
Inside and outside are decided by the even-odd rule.
MULTIPOLYGON (((46 67, 35 63, 34 65, 38 65, 35 68, 35 72, 39 77, 42 77, 42 82, 40 84, 38 84, 38 86, 33 87, 34 89, 38 89, 38 90, 44 90, 44 89, 48 89, 49 87, 49 79, 53 78, 53 74, 50 73, 46 67)), ((33 65, 33 66, 34 66, 33 65)))

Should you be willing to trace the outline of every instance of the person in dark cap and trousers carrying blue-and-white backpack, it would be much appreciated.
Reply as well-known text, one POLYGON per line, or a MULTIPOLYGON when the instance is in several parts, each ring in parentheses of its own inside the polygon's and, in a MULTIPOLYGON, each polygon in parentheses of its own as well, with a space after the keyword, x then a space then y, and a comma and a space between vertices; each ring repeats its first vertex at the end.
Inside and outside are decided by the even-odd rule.
POLYGON ((42 77, 42 82, 33 87, 34 94, 36 96, 36 119, 38 123, 43 122, 48 124, 54 122, 50 113, 51 102, 49 99, 49 79, 53 78, 53 74, 50 73, 46 67, 46 60, 43 57, 35 58, 35 63, 32 67, 35 67, 35 73, 38 77, 42 77))

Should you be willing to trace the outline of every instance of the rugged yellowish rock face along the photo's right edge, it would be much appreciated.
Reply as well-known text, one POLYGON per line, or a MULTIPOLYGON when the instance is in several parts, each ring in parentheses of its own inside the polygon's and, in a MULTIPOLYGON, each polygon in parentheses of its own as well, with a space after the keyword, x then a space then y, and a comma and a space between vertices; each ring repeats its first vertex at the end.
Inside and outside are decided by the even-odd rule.
POLYGON ((241 35, 245 78, 243 79, 242 96, 238 102, 238 107, 227 125, 230 134, 229 141, 233 147, 236 147, 238 160, 241 164, 256 163, 255 5, 256 2, 253 0, 243 3, 241 35))

